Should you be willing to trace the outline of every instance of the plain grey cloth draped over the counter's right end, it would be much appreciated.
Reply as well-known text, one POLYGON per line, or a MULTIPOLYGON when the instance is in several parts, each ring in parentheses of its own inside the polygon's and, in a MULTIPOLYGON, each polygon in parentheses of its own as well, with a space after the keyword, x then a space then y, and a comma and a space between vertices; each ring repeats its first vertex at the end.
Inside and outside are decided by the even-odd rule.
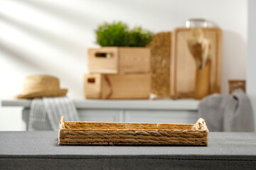
POLYGON ((230 95, 213 94, 203 98, 199 116, 211 132, 254 132, 254 115, 250 98, 243 91, 230 95))

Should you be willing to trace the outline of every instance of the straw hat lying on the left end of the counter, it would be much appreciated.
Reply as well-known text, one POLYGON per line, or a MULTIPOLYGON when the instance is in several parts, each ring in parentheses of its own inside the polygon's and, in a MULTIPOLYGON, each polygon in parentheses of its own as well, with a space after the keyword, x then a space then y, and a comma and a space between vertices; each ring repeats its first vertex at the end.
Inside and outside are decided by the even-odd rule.
POLYGON ((68 89, 60 89, 60 81, 48 75, 33 75, 25 78, 23 93, 16 98, 65 96, 68 89))

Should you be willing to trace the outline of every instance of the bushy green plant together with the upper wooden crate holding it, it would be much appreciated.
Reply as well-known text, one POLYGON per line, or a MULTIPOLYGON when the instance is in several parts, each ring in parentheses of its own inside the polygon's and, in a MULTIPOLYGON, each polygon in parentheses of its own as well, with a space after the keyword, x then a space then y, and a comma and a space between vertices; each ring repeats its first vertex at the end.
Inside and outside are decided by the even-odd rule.
POLYGON ((95 30, 100 48, 88 50, 91 73, 126 74, 150 72, 152 33, 142 27, 129 28, 126 23, 102 23, 95 30))

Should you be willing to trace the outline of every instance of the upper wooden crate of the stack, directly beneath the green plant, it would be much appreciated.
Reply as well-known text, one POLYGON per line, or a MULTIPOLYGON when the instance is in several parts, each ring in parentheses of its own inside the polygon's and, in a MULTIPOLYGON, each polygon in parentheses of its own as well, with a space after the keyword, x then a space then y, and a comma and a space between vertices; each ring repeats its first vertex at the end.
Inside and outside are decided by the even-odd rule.
POLYGON ((87 61, 90 73, 149 73, 150 49, 147 47, 90 48, 87 61))

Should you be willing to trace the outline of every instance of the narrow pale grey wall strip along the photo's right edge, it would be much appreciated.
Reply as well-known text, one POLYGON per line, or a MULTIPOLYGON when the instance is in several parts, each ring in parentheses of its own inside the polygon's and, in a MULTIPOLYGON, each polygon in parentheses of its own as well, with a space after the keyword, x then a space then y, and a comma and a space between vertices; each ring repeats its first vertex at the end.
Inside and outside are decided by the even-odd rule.
MULTIPOLYGON (((250 96, 256 124, 256 1, 248 1, 247 94, 250 96)), ((256 126, 255 126, 256 131, 256 126)))

